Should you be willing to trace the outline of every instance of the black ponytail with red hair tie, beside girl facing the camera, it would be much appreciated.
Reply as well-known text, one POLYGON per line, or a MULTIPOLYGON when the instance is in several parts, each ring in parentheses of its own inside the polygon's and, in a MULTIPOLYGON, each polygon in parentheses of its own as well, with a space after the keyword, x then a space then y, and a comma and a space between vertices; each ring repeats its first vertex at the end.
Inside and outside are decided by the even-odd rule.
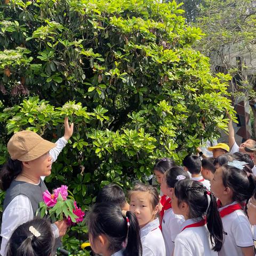
POLYGON ((127 211, 125 215, 125 221, 127 221, 128 234, 127 245, 123 254, 124 256, 142 255, 140 228, 135 214, 133 212, 127 211))

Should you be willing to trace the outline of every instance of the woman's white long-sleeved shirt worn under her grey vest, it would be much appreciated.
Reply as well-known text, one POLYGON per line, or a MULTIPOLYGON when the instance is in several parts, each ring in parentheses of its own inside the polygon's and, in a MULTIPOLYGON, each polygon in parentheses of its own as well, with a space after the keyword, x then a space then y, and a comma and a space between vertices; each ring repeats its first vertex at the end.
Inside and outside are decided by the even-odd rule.
MULTIPOLYGON (((67 141, 64 137, 60 138, 56 142, 56 147, 50 150, 52 162, 55 162, 63 147, 65 147, 67 141)), ((45 177, 41 177, 44 180, 45 177)), ((39 183, 38 183, 39 185, 39 183)), ((5 256, 5 248, 9 241, 13 231, 22 223, 34 219, 33 208, 30 200, 25 195, 18 195, 12 199, 9 205, 7 205, 2 218, 2 244, 0 254, 5 256), (15 220, 15 221, 14 221, 15 220)), ((59 229, 56 225, 51 225, 55 238, 59 237, 59 229)))

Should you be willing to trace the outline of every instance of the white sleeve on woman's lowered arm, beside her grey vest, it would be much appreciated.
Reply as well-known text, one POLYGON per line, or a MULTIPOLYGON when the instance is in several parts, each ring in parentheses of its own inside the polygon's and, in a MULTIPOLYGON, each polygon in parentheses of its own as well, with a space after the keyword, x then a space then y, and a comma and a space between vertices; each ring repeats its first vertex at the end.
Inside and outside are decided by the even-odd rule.
POLYGON ((29 198, 25 195, 14 197, 3 213, 1 229, 2 244, 0 251, 2 256, 5 256, 7 242, 15 228, 33 218, 34 214, 29 198))

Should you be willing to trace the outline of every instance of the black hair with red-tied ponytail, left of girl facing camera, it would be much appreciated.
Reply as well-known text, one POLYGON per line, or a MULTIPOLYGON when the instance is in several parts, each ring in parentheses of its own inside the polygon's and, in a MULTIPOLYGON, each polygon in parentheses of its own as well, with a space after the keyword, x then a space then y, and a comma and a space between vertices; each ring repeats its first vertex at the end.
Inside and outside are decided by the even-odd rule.
POLYGON ((140 227, 134 213, 127 211, 126 215, 123 215, 117 204, 98 203, 89 211, 86 221, 92 241, 99 235, 106 235, 109 242, 108 250, 111 253, 122 250, 127 238, 124 256, 142 255, 140 227), (126 217, 129 219, 130 227, 126 217))

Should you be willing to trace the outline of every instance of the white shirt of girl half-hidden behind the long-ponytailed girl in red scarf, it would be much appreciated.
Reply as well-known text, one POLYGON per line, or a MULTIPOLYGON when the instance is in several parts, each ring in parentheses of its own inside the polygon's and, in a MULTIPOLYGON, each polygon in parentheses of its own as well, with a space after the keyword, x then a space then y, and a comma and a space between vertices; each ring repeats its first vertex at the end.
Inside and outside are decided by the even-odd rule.
POLYGON ((181 231, 182 223, 185 221, 182 215, 174 214, 172 208, 164 212, 162 221, 162 234, 164 237, 166 256, 172 256, 174 240, 181 231))

